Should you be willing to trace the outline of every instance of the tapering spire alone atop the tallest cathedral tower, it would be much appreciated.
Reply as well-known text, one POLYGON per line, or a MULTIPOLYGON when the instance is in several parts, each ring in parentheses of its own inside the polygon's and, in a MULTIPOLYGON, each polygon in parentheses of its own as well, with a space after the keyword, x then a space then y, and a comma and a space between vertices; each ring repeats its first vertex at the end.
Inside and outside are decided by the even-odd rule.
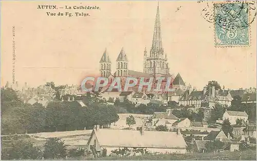
POLYGON ((163 54, 162 40, 161 40, 159 2, 158 2, 157 13, 156 13, 156 18, 155 18, 153 44, 152 44, 151 52, 154 52, 154 54, 156 54, 156 55, 163 54))

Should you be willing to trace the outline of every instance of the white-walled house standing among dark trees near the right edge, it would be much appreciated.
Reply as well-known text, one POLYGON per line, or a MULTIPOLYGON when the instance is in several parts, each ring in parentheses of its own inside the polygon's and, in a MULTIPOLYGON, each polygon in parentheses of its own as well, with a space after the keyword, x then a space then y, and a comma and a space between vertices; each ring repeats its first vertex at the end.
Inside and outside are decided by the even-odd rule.
POLYGON ((228 111, 223 114, 223 120, 229 119, 230 125, 235 125, 237 119, 248 120, 248 114, 244 111, 228 111))

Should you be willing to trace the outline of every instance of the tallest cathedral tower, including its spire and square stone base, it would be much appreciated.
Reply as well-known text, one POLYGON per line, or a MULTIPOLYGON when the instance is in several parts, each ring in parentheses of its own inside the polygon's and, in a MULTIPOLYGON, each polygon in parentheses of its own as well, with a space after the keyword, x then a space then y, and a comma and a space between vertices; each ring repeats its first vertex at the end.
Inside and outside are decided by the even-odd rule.
POLYGON ((144 72, 149 74, 169 74, 167 55, 164 54, 162 48, 162 38, 161 38, 161 25, 160 25, 160 12, 159 3, 157 6, 157 13, 154 25, 153 42, 150 50, 150 57, 147 57, 147 51, 144 50, 144 72))

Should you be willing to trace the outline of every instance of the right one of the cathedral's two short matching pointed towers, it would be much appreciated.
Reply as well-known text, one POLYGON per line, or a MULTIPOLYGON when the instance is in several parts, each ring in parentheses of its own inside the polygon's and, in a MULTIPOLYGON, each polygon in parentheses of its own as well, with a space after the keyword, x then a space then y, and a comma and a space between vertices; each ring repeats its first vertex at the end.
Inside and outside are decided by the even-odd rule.
POLYGON ((127 76, 127 55, 125 54, 123 48, 121 49, 117 59, 117 70, 116 76, 127 76))

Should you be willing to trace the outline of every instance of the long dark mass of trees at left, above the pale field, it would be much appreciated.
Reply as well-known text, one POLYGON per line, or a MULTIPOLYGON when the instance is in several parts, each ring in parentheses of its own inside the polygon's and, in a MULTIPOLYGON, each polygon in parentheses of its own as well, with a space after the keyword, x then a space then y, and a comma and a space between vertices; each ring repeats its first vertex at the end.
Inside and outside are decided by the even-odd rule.
POLYGON ((114 106, 101 103, 94 95, 82 98, 88 107, 78 102, 51 102, 45 108, 38 103, 24 104, 12 89, 1 93, 2 134, 90 129, 119 119, 114 106))

